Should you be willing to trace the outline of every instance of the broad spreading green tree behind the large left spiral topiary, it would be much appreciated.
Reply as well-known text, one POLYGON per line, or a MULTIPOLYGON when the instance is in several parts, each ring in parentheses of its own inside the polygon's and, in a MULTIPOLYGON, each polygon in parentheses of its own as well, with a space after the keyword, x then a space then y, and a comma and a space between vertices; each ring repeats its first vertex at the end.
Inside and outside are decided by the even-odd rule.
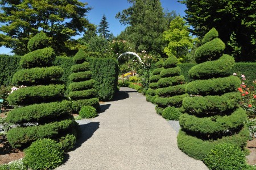
POLYGON ((71 55, 79 48, 72 36, 92 26, 85 18, 90 8, 77 0, 2 0, 0 5, 0 45, 17 55, 28 53, 28 40, 40 31, 57 55, 71 55))

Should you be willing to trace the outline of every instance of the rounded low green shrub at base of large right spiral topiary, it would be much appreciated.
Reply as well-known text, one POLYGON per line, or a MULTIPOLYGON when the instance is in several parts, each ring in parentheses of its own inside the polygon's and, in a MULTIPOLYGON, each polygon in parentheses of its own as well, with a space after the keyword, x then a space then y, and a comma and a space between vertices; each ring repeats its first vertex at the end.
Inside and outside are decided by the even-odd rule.
POLYGON ((241 148, 230 143, 214 146, 205 157, 204 163, 212 170, 241 170, 246 168, 245 154, 241 148))

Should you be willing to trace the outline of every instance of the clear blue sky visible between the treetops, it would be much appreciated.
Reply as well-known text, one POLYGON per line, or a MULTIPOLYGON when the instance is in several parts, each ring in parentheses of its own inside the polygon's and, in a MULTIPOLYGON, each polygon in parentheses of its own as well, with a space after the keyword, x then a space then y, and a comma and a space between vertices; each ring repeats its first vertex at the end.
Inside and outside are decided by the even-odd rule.
MULTIPOLYGON (((87 13, 87 19, 90 23, 100 24, 102 16, 106 16, 106 20, 109 23, 109 31, 112 32, 115 36, 120 34, 121 31, 125 30, 126 26, 123 26, 119 23, 118 19, 115 19, 115 15, 122 10, 127 9, 131 6, 131 3, 128 3, 127 0, 80 0, 81 2, 87 2, 89 7, 93 9, 87 13)), ((164 10, 176 11, 177 14, 185 16, 184 10, 186 9, 185 5, 177 2, 177 0, 160 0, 164 10)), ((11 49, 5 47, 0 47, 0 54, 11 55, 11 49)))

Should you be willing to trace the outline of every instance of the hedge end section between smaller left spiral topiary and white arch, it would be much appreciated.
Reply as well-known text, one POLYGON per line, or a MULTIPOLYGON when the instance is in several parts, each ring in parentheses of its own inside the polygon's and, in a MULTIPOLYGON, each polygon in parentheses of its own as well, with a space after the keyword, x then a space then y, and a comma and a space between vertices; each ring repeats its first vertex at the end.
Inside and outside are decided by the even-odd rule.
POLYGON ((101 101, 113 99, 117 92, 118 64, 115 59, 90 59, 92 78, 96 80, 94 88, 101 101))

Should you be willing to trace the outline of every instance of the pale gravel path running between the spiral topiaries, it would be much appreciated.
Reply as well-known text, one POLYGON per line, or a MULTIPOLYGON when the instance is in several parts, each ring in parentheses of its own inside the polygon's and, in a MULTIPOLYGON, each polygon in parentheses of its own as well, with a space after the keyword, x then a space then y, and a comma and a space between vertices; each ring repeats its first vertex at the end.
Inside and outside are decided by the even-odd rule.
POLYGON ((170 122, 134 89, 120 88, 101 109, 98 117, 78 121, 81 138, 57 169, 208 169, 177 148, 170 122))

